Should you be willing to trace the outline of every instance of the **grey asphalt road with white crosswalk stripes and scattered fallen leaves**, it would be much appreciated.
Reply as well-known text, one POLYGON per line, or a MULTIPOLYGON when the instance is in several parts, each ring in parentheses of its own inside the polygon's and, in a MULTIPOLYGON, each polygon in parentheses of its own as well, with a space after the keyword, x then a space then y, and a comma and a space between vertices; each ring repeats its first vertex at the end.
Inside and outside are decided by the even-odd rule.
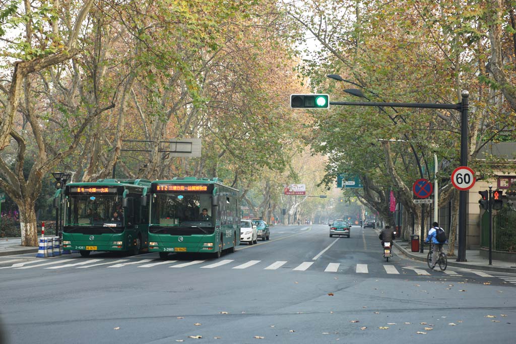
POLYGON ((512 282, 386 263, 371 229, 276 226, 220 259, 1 257, 0 322, 8 343, 513 342, 512 282))

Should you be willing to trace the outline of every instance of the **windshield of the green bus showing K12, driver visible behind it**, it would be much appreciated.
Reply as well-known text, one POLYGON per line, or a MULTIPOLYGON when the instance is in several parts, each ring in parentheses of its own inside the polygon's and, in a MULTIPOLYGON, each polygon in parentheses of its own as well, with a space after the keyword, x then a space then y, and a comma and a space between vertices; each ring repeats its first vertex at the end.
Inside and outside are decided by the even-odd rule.
POLYGON ((214 226, 209 194, 158 193, 152 199, 151 225, 214 226))

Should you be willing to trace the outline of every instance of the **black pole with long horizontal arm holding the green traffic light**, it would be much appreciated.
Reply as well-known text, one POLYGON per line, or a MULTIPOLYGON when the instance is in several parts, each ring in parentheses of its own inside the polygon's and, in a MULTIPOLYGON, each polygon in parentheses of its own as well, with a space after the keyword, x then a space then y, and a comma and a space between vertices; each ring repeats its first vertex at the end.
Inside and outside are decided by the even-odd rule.
MULTIPOLYGON (((447 109, 461 112, 460 122, 460 166, 467 166, 467 143, 468 124, 467 112, 469 109, 470 93, 463 90, 462 101, 457 104, 434 104, 434 103, 383 103, 383 102, 329 102, 330 105, 344 106, 376 106, 376 107, 406 107, 417 109, 447 109)), ((467 191, 459 192, 459 249, 457 261, 466 260, 466 204, 467 191)), ((423 228, 422 228, 423 230, 423 228)))

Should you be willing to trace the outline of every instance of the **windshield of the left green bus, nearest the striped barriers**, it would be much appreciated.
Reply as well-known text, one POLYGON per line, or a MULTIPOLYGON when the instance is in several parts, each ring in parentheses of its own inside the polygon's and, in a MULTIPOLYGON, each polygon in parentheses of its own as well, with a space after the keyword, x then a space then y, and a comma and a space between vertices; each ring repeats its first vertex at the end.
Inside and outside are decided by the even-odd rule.
POLYGON ((116 194, 70 195, 65 226, 123 227, 121 197, 116 194))

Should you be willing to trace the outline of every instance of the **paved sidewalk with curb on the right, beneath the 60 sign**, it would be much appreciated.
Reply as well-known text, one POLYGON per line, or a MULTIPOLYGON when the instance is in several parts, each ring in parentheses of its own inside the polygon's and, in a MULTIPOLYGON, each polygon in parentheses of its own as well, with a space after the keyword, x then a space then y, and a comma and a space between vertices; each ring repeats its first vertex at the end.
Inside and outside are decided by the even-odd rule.
MULTIPOLYGON (((426 257, 428 255, 428 250, 429 250, 429 247, 427 245, 425 245, 424 253, 411 252, 412 250, 411 250, 410 241, 401 241, 400 239, 397 239, 394 241, 394 246, 409 258, 426 261, 426 257)), ((444 252, 448 252, 447 244, 444 245, 443 250, 444 250, 444 252)), ((456 261, 457 250, 455 250, 455 254, 456 254, 456 256, 454 256, 454 257, 448 257, 448 266, 453 266, 453 267, 458 267, 458 268, 463 268, 463 269, 516 273, 516 263, 492 259, 493 264, 489 265, 489 259, 480 257, 480 253, 478 250, 466 250, 466 260, 467 261, 460 261, 460 262, 456 261)))

